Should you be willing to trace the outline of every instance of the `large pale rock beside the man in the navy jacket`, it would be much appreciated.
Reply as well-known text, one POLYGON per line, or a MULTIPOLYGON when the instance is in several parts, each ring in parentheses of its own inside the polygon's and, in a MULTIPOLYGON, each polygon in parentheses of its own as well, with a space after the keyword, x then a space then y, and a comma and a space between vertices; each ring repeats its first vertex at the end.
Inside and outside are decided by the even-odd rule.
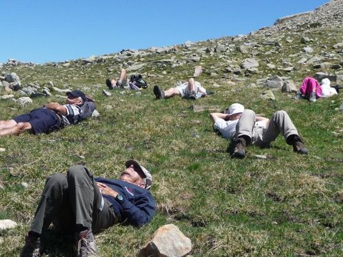
POLYGON ((163 225, 154 233, 139 257, 182 257, 191 252, 191 239, 182 234, 176 225, 163 225))

